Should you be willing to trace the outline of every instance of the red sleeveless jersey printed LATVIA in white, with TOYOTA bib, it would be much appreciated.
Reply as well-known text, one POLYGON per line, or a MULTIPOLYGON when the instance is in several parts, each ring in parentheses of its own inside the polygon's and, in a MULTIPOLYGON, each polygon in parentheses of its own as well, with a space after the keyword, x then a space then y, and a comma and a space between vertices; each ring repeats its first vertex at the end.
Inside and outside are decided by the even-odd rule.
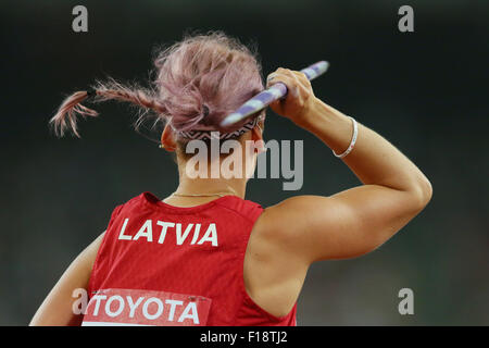
POLYGON ((244 253, 263 209, 236 196, 179 208, 143 192, 114 209, 83 325, 296 325, 248 296, 244 253))

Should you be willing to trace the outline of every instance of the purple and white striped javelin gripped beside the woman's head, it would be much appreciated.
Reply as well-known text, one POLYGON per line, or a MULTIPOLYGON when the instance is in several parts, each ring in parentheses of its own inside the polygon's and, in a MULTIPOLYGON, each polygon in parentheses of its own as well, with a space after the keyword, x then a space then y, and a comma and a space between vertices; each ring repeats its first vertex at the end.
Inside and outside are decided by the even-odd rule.
MULTIPOLYGON (((321 61, 301 70, 301 73, 304 73, 305 76, 311 80, 326 73, 328 67, 328 62, 321 61)), ((230 126, 248 117, 249 115, 265 109, 275 100, 284 98, 287 95, 287 86, 285 84, 274 84, 272 87, 261 91, 260 94, 248 100, 238 110, 224 117, 224 120, 221 122, 221 126, 230 126)))

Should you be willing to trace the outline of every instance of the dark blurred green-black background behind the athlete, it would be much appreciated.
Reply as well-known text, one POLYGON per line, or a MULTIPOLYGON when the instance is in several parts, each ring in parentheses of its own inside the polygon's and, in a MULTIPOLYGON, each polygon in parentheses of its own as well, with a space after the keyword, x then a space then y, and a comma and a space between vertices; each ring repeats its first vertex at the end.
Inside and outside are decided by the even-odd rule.
MULTIPOLYGON (((57 139, 48 120, 96 78, 145 84, 154 48, 188 29, 255 42, 265 74, 328 60, 316 96, 384 135, 432 183, 427 209, 381 248, 312 266, 299 325, 489 324, 488 1, 2 0, 0 13, 1 325, 29 322, 115 206, 173 192, 175 164, 130 128, 127 105, 97 105, 101 117, 80 123, 82 139, 57 139), (88 33, 72 30, 76 4, 88 9, 88 33), (414 33, 398 30, 403 4, 414 33), (414 315, 398 312, 403 287, 414 315)), ((272 112, 265 135, 304 140, 304 185, 254 179, 248 199, 266 207, 359 184, 272 112)))

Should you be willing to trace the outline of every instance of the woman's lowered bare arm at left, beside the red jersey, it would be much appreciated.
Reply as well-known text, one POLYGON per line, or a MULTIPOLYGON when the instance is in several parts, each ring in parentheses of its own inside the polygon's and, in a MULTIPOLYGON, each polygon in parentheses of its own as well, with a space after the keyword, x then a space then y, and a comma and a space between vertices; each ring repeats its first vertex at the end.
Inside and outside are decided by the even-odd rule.
POLYGON ((87 289, 97 252, 104 233, 95 239, 70 264, 55 286, 37 310, 29 325, 79 325, 83 316, 73 312, 73 291, 87 289))

